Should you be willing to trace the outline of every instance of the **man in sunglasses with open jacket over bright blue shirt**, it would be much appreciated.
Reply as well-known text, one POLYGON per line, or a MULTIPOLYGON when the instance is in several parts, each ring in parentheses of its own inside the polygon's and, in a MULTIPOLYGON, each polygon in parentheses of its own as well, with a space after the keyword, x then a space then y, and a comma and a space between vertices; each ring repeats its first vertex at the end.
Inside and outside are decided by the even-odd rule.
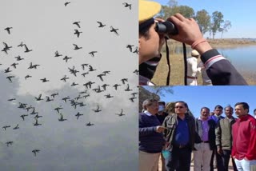
POLYGON ((169 113, 163 126, 166 149, 170 157, 166 159, 166 171, 189 171, 191 152, 194 148, 195 121, 187 113, 188 106, 184 101, 176 101, 175 113, 169 113))

